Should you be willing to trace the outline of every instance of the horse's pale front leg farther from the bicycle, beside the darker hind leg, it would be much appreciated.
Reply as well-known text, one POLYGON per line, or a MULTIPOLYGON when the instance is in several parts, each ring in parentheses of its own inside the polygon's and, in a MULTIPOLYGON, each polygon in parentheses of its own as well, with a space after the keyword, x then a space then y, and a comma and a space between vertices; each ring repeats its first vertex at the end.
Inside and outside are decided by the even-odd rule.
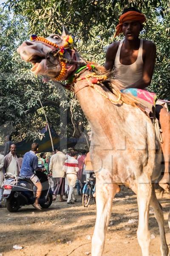
POLYGON ((140 182, 137 185, 137 201, 139 209, 137 239, 142 250, 142 256, 149 256, 150 233, 148 230, 148 219, 151 193, 150 180, 147 180, 146 177, 141 177, 140 182))

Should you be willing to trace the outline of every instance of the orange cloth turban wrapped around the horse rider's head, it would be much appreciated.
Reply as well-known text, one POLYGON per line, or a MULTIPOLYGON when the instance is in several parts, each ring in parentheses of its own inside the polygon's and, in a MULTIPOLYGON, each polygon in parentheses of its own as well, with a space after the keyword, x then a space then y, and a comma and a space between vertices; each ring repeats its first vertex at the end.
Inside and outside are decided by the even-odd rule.
POLYGON ((144 14, 140 12, 135 12, 135 11, 125 12, 119 17, 119 24, 116 26, 116 33, 114 37, 122 33, 123 22, 127 20, 134 20, 134 21, 139 21, 140 23, 144 23, 144 21, 146 20, 146 17, 144 14))

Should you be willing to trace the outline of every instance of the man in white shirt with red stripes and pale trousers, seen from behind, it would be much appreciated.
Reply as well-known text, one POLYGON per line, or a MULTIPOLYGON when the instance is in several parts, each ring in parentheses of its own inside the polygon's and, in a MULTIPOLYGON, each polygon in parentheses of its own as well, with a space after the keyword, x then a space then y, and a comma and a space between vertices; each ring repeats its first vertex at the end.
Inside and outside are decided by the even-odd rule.
POLYGON ((65 160, 63 171, 66 173, 69 186, 67 204, 74 204, 77 201, 77 198, 74 195, 74 189, 77 180, 77 172, 79 171, 76 152, 71 152, 70 157, 65 160), (74 202, 71 201, 71 199, 73 199, 74 202))

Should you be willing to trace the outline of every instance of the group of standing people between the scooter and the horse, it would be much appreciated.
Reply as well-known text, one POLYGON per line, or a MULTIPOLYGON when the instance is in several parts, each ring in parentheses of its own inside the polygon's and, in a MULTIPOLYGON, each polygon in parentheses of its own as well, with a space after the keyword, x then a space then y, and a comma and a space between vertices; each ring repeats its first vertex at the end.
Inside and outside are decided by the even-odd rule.
POLYGON ((68 205, 77 202, 74 193, 75 186, 77 185, 77 194, 81 195, 83 184, 88 178, 88 173, 85 172, 85 163, 88 163, 90 159, 86 161, 86 153, 85 150, 75 151, 73 149, 65 152, 60 151, 59 148, 52 152, 48 173, 53 184, 54 201, 59 195, 60 202, 67 201, 68 205))

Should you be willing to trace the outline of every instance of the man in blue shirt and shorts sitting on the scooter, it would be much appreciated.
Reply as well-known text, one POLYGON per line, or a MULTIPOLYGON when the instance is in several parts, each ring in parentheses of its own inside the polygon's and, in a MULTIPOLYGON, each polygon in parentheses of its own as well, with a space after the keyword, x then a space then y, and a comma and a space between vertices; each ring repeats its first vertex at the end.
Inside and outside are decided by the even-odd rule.
POLYGON ((36 209, 41 210, 41 207, 38 204, 38 200, 41 195, 42 185, 40 183, 39 178, 35 175, 35 171, 40 169, 38 167, 38 157, 36 156, 37 151, 38 151, 38 144, 32 143, 31 150, 29 152, 27 152, 23 157, 23 163, 22 163, 22 167, 20 170, 20 176, 30 179, 34 183, 34 185, 37 186, 37 195, 36 195, 36 200, 35 200, 33 206, 36 209))

